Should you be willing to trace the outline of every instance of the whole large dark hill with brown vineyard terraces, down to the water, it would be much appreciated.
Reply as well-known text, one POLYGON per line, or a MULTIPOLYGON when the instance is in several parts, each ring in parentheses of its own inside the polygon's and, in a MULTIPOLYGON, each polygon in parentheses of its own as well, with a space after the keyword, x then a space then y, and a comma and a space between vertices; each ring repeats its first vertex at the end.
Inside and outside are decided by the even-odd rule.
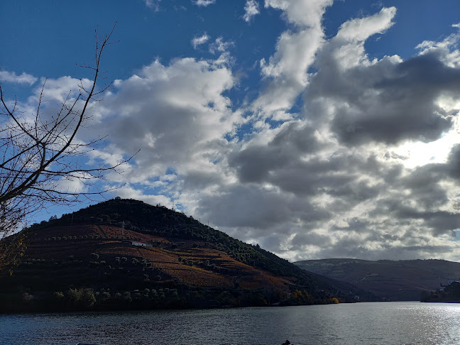
POLYGON ((22 231, 0 270, 0 311, 353 302, 367 292, 308 273, 192 217, 111 199, 22 231))

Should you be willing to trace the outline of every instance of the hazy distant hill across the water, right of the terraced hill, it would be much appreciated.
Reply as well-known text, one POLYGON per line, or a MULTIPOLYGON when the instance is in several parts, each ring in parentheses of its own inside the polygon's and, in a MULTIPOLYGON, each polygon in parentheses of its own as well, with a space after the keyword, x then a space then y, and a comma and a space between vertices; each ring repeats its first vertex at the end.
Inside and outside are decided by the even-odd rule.
POLYGON ((297 261, 295 265, 391 300, 420 300, 422 292, 460 278, 460 263, 444 260, 366 261, 324 259, 297 261))

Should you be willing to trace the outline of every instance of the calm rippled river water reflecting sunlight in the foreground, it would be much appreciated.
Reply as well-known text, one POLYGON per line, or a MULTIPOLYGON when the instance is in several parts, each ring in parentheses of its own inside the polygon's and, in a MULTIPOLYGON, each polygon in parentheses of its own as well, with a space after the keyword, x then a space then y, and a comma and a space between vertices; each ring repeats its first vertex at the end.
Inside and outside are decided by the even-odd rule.
POLYGON ((460 305, 352 305, 0 315, 0 344, 460 344, 460 305))

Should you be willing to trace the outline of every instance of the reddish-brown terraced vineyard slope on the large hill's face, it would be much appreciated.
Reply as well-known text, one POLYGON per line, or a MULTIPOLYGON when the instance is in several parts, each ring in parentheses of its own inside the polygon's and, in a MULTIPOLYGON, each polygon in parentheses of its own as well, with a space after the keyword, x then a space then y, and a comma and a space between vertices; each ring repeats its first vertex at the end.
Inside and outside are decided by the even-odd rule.
MULTIPOLYGON (((241 263, 209 243, 142 234, 110 225, 53 226, 29 236, 26 256, 15 275, 40 275, 49 284, 77 283, 77 273, 94 273, 99 284, 149 285, 144 280, 194 287, 279 288, 288 290, 292 278, 278 278, 266 270, 241 263), (97 268, 94 270, 94 268, 97 268), (40 271, 43 275, 39 274, 40 271), (54 272, 54 275, 49 274, 54 272), (145 275, 148 275, 146 278, 145 275), (56 278, 59 278, 56 282, 56 278), (123 280, 121 280, 123 278, 123 280), (130 280, 126 283, 124 280, 130 280)), ((84 277, 85 275, 83 275, 84 277)), ((90 283, 89 281, 87 283, 90 283)))

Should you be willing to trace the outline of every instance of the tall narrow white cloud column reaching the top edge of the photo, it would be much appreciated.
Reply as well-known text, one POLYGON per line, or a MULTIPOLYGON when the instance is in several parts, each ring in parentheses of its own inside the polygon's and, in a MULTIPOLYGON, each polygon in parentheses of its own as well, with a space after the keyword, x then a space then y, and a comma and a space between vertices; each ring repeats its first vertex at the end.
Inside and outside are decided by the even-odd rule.
POLYGON ((289 111, 296 97, 307 86, 308 70, 314 62, 317 50, 324 42, 322 16, 329 0, 285 1, 267 0, 265 7, 282 9, 285 20, 295 26, 295 31, 285 31, 278 38, 275 53, 261 60, 261 75, 265 87, 253 102, 255 111, 263 117, 282 115, 289 111))

